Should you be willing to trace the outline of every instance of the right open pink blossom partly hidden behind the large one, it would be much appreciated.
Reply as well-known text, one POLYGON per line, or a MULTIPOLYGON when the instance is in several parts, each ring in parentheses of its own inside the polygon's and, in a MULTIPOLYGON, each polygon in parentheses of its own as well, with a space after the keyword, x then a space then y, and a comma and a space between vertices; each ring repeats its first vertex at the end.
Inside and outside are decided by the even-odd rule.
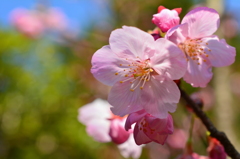
POLYGON ((218 26, 219 15, 214 9, 198 7, 166 34, 184 52, 188 66, 183 78, 193 87, 207 85, 212 78, 212 66, 228 66, 235 60, 235 48, 212 35, 218 26))

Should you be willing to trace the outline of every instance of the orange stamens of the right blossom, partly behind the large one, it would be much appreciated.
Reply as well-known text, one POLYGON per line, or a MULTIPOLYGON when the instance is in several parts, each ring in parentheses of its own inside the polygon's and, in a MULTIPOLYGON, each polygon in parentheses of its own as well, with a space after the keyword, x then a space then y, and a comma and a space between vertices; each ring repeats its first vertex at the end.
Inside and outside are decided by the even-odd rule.
POLYGON ((200 65, 200 59, 206 62, 206 58, 209 56, 207 53, 211 52, 208 43, 201 39, 187 39, 184 43, 180 43, 178 47, 185 53, 187 61, 192 59, 198 65, 200 65))

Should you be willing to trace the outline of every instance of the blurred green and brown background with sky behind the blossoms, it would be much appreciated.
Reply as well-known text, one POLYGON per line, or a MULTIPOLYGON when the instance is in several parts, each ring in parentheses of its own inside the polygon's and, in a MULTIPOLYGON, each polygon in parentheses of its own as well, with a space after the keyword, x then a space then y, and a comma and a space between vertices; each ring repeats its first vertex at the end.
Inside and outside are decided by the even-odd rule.
MULTIPOLYGON (((221 26, 217 34, 236 47, 238 54, 238 0, 2 1, 0 158, 122 159, 116 145, 94 141, 77 120, 81 106, 96 98, 106 99, 109 90, 91 75, 91 56, 108 44, 116 28, 127 25, 144 31, 154 29, 151 19, 160 5, 182 8, 180 17, 196 6, 218 10, 221 26)), ((207 88, 193 89, 184 82, 182 87, 203 99, 204 110, 213 123, 240 151, 239 70, 237 55, 232 66, 213 70, 214 78, 207 88)), ((176 129, 188 132, 189 116, 184 104, 179 104, 173 114, 176 129)), ((194 150, 206 155, 204 126, 196 121, 195 127, 194 150)), ((171 145, 149 145, 141 158, 161 158, 162 154, 174 158, 183 151, 171 145)))

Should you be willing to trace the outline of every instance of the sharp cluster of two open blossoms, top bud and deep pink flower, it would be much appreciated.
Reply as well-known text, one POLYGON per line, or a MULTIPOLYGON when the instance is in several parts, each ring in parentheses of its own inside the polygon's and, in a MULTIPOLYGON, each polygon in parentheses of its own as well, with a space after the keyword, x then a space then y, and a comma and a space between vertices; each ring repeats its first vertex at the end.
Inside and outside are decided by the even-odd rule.
POLYGON ((180 13, 181 8, 160 6, 153 15, 158 29, 152 35, 123 26, 112 31, 109 45, 92 57, 93 76, 112 87, 108 96, 111 111, 128 115, 126 131, 135 123, 137 145, 164 144, 173 133, 169 112, 176 111, 180 99, 174 80, 183 78, 193 87, 205 87, 213 66, 228 66, 235 60, 235 48, 213 35, 219 26, 214 9, 195 8, 181 23, 180 13))

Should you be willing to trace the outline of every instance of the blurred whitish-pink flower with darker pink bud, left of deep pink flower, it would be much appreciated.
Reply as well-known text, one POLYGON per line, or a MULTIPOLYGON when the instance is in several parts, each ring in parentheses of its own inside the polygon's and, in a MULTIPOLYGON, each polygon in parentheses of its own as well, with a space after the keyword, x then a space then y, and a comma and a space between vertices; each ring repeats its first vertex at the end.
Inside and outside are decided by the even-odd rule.
POLYGON ((116 144, 125 142, 131 130, 124 129, 126 117, 117 117, 110 111, 107 101, 96 99, 79 109, 79 121, 87 125, 87 132, 96 141, 116 144))

